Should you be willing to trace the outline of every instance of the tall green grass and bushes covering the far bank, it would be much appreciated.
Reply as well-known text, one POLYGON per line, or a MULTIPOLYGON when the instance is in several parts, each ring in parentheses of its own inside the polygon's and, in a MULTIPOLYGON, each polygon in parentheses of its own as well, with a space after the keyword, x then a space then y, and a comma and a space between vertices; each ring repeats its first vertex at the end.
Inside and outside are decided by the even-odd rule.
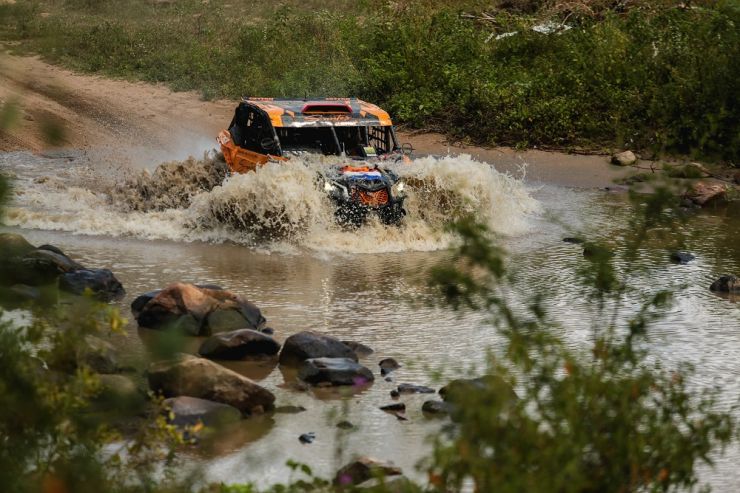
POLYGON ((0 7, 0 35, 207 98, 357 95, 475 143, 738 161, 737 0, 314 3, 31 1, 0 7), (531 29, 548 19, 571 29, 531 29))

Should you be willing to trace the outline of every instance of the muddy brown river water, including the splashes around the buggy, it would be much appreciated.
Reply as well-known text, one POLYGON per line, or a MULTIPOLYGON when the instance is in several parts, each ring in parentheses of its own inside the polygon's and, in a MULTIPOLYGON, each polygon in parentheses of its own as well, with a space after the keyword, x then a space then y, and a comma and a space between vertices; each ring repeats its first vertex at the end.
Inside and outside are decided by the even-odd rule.
MULTIPOLYGON (((110 267, 128 291, 120 303, 125 314, 136 294, 169 282, 217 283, 256 302, 278 339, 315 329, 373 347, 375 354, 363 360, 370 368, 389 356, 402 362, 393 382, 378 376, 372 386, 347 393, 295 390, 293 376, 270 362, 229 364, 272 390, 278 405, 307 410, 245 420, 204 450, 185 455, 208 478, 226 482, 287 480, 288 459, 329 476, 354 453, 392 460, 416 474, 415 465, 429 450, 428 437, 440 426, 421 414, 425 396, 403 398, 408 421, 378 406, 391 402, 388 392, 398 383, 438 388, 431 376, 435 370, 445 378, 464 373, 480 366, 485 348, 497 344, 481 314, 451 313, 426 303, 425 272, 449 256, 450 238, 442 228, 446 211, 474 211, 500 233, 515 272, 513 298, 546 293, 551 315, 574 347, 588 339, 593 313, 577 287, 581 249, 561 239, 582 230, 618 249, 630 214, 621 195, 525 185, 467 158, 429 159, 407 170, 407 179, 420 185, 401 230, 370 224, 353 233, 335 229, 321 195, 306 192, 315 171, 310 166, 305 176, 275 167, 258 177, 237 177, 193 193, 174 209, 135 206, 134 199, 115 194, 111 200, 110 183, 104 183, 110 177, 100 173, 105 167, 78 155, 6 154, 0 155, 0 167, 17 183, 5 229, 36 244, 58 245, 84 264, 110 267), (290 207, 282 210, 281 204, 290 207), (224 214, 214 214, 256 207, 262 207, 262 218, 251 217, 242 228, 219 222, 224 214), (269 225, 276 214, 283 214, 280 224, 288 224, 290 234, 265 237, 249 230, 269 225), (342 419, 358 428, 340 433, 335 424, 342 419), (316 433, 311 445, 298 442, 306 432, 316 433)), ((652 329, 655 354, 667 365, 695 363, 693 383, 720 386, 722 405, 729 406, 740 396, 740 302, 715 296, 707 287, 719 274, 740 273, 740 211, 703 211, 681 229, 685 249, 697 259, 673 265, 665 250, 648 245, 638 260, 647 270, 634 279, 637 289, 625 316, 647 293, 676 288, 676 303, 652 329)), ((667 232, 669 238, 676 234, 667 232)), ((136 358, 150 338, 131 325, 121 347, 136 358)), ((703 476, 716 491, 736 491, 738 461, 740 450, 733 447, 703 476)))

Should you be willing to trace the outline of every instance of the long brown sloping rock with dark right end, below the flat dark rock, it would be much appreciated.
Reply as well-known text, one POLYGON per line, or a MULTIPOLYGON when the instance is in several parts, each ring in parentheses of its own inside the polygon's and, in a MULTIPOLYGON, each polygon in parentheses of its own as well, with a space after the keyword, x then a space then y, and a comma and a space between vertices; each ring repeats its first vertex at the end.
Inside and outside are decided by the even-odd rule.
POLYGON ((275 402, 269 390, 247 377, 189 355, 153 363, 147 378, 149 387, 165 397, 198 397, 229 404, 242 413, 260 413, 272 409, 275 402))

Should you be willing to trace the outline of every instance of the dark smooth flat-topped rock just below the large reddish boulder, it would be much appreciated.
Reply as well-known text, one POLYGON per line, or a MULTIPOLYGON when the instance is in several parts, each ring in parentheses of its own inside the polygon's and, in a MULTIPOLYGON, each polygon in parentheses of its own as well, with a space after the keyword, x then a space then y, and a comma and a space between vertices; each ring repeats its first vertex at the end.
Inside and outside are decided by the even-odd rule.
POLYGON ((210 359, 239 360, 255 356, 274 356, 280 343, 267 334, 252 329, 223 332, 206 339, 198 354, 210 359))

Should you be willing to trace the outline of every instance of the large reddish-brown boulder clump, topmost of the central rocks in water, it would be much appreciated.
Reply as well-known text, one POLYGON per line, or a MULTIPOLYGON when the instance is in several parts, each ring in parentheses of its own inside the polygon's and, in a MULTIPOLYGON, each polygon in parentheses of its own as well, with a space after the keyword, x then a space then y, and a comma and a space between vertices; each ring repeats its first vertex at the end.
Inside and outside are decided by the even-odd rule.
POLYGON ((177 328, 191 335, 211 335, 238 329, 260 330, 266 322, 253 303, 224 289, 175 283, 150 294, 131 304, 140 327, 177 328), (148 298, 150 294, 154 295, 148 298))

